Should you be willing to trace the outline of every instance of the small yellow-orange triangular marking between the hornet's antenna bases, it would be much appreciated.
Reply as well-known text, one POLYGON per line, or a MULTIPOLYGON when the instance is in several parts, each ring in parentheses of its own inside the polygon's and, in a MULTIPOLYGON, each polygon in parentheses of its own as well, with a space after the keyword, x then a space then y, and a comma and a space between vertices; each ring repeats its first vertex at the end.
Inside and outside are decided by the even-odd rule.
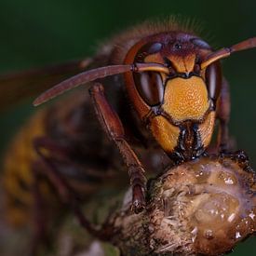
POLYGON ((179 73, 189 73, 193 72, 195 66, 195 54, 179 56, 170 55, 168 60, 172 62, 176 71, 179 73))

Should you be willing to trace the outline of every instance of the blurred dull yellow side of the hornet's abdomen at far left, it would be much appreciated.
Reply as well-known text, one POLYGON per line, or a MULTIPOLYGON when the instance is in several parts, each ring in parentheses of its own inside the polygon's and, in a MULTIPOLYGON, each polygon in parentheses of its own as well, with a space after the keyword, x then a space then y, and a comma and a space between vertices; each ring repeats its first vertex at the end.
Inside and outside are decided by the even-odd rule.
POLYGON ((31 220, 34 205, 32 193, 34 175, 31 164, 38 157, 34 152, 33 140, 45 134, 45 116, 45 112, 37 113, 20 130, 9 146, 4 161, 3 181, 6 192, 7 221, 14 225, 21 225, 31 220), (23 188, 20 182, 26 188, 23 188), (23 204, 23 207, 20 207, 16 200, 23 204))

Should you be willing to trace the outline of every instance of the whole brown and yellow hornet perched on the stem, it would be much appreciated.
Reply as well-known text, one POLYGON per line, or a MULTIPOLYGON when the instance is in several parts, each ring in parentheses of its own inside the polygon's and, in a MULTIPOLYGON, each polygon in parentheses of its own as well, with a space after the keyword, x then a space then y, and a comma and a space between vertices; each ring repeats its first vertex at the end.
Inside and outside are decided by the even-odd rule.
MULTIPOLYGON (((34 105, 88 83, 92 102, 79 90, 40 111, 21 131, 6 161, 9 206, 14 208, 22 200, 20 195, 31 192, 45 173, 45 179, 57 187, 80 222, 97 234, 79 209, 74 193, 93 179, 104 179, 104 169, 114 166, 111 159, 116 147, 128 168, 131 207, 140 212, 145 207, 145 170, 161 165, 155 160, 159 155, 179 164, 205 154, 216 119, 218 150, 228 150, 229 89, 220 61, 251 47, 256 47, 256 38, 215 51, 173 20, 157 25, 145 23, 115 37, 95 58, 14 77, 2 76, 2 88, 14 85, 17 89, 15 101, 20 98, 20 86, 24 89, 35 79, 40 89, 48 89, 34 105), (51 88, 48 78, 58 83, 62 72, 80 73, 51 88), (93 108, 103 132, 93 119, 93 108), (104 141, 104 133, 110 141, 104 141), (24 138, 29 142, 23 143, 24 138), (27 159, 22 168, 17 156, 20 151, 20 158, 27 159), (74 182, 80 184, 79 189, 74 182)), ((31 88, 32 94, 38 86, 31 88)), ((39 192, 34 189, 37 201, 39 192)), ((14 219, 22 219, 21 213, 15 214, 14 219)))

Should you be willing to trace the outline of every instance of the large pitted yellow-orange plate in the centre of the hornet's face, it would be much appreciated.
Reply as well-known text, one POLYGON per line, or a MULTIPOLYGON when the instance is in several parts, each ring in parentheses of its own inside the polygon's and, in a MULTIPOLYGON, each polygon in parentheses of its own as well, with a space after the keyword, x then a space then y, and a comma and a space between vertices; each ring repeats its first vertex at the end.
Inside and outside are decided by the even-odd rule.
POLYGON ((168 81, 163 109, 174 121, 199 120, 209 109, 208 90, 200 77, 168 81))

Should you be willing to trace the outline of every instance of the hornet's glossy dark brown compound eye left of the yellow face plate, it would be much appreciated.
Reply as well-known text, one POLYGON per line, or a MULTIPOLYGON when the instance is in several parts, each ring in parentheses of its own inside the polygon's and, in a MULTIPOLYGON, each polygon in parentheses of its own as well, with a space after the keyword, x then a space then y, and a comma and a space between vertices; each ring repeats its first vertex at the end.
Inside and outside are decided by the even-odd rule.
POLYGON ((159 105, 164 97, 164 85, 161 75, 156 72, 133 74, 136 88, 141 98, 149 106, 159 105))

